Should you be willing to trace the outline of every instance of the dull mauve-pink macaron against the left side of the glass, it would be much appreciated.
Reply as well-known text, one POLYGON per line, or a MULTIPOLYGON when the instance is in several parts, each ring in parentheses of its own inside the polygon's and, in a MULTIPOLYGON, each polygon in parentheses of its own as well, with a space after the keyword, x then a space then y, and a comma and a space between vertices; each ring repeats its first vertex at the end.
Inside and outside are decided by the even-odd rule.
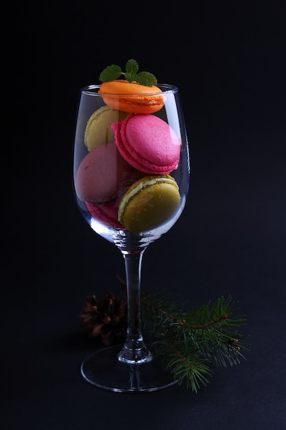
POLYGON ((121 157, 115 142, 97 146, 82 159, 75 179, 78 197, 104 203, 121 196, 142 174, 121 157))

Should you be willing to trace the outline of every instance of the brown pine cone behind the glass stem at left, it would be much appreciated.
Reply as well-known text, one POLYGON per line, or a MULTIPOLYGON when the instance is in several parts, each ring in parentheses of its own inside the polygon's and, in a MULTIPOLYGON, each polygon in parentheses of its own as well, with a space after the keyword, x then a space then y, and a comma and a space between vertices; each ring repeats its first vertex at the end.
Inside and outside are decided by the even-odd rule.
POLYGON ((84 310, 80 313, 82 326, 91 330, 90 337, 102 341, 104 346, 110 346, 115 341, 121 341, 127 330, 126 299, 117 299, 106 291, 102 299, 95 295, 86 297, 84 310))

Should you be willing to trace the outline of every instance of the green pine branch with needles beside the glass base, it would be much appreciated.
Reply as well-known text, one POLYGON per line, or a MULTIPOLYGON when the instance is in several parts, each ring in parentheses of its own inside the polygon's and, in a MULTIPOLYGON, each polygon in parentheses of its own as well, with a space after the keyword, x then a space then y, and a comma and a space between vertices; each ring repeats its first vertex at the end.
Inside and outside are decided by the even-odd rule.
POLYGON ((211 365, 226 367, 245 359, 245 337, 231 330, 245 325, 245 319, 233 314, 237 304, 231 297, 221 297, 200 308, 186 310, 170 293, 141 293, 145 329, 152 332, 154 357, 158 365, 169 370, 179 385, 186 381, 194 392, 206 385, 213 371, 211 365))

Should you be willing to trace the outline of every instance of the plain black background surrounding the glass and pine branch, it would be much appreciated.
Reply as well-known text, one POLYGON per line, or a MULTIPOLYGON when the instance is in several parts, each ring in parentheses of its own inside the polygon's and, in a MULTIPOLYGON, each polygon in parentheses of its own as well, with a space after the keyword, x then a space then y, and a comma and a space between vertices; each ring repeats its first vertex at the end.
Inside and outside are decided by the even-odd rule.
POLYGON ((285 429, 285 14, 275 0, 13 3, 3 67, 3 428, 285 429), (80 376, 95 348, 78 317, 85 297, 121 295, 124 272, 73 199, 75 113, 80 88, 130 58, 178 85, 191 150, 187 206, 147 249, 143 287, 190 307, 231 295, 246 315, 247 361, 217 370, 198 394, 110 393, 80 376))

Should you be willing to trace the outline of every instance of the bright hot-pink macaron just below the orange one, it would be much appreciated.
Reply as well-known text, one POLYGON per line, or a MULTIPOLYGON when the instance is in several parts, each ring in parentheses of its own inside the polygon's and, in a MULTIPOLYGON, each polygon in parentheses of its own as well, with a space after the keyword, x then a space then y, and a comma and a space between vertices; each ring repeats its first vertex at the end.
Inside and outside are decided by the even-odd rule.
POLYGON ((178 168, 180 140, 159 117, 130 115, 111 129, 119 152, 134 168, 149 174, 169 174, 178 168))

